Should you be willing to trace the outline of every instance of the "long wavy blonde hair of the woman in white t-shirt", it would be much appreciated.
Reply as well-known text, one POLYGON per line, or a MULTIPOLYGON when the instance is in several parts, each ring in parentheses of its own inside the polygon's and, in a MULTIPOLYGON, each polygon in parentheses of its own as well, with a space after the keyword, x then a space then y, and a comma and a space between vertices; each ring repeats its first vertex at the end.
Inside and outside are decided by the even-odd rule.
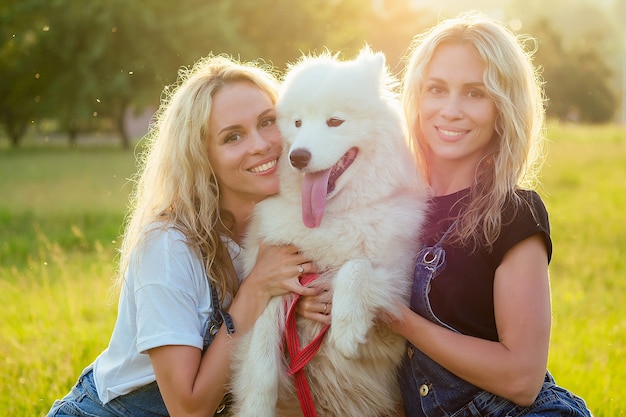
MULTIPOLYGON (((139 160, 121 246, 118 286, 149 226, 175 227, 201 256, 222 301, 234 296, 238 279, 223 237, 233 238, 234 218, 220 209, 218 181, 209 162, 209 116, 213 96, 223 86, 249 82, 276 103, 278 82, 272 67, 209 56, 182 68, 166 87, 139 160)), ((134 261, 133 261, 134 262, 134 261)))

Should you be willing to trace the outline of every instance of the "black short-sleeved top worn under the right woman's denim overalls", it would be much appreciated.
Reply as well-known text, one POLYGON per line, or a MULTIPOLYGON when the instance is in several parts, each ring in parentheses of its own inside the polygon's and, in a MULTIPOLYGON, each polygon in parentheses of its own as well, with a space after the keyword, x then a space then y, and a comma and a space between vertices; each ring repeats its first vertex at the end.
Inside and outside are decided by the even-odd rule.
MULTIPOLYGON (((451 245, 444 241, 447 265, 432 282, 430 303, 443 322, 463 334, 497 341, 493 282, 495 272, 506 252, 515 244, 537 233, 543 237, 548 261, 552 241, 548 212, 541 197, 528 190, 516 191, 525 204, 514 212, 512 203, 503 208, 502 229, 492 250, 451 245)), ((422 235, 427 245, 434 245, 467 204, 469 189, 434 197, 422 235)))

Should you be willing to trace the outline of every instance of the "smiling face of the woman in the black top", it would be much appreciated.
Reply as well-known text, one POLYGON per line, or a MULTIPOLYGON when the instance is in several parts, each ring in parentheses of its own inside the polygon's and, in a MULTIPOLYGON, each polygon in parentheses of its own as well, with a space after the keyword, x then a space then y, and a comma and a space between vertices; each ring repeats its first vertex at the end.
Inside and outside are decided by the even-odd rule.
POLYGON ((497 109, 483 72, 478 51, 469 43, 442 43, 435 50, 420 91, 418 135, 426 141, 432 164, 473 169, 485 154, 497 109))

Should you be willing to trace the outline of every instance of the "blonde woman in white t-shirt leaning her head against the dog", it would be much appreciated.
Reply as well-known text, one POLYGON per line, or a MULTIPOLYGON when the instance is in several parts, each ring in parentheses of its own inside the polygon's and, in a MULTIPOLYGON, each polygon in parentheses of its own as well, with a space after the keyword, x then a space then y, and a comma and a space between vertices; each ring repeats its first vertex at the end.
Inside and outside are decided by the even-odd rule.
POLYGON ((243 280, 254 205, 278 192, 271 69, 208 57, 165 90, 131 200, 109 346, 49 416, 211 416, 231 352, 272 296, 314 295, 293 246, 263 246, 243 280))

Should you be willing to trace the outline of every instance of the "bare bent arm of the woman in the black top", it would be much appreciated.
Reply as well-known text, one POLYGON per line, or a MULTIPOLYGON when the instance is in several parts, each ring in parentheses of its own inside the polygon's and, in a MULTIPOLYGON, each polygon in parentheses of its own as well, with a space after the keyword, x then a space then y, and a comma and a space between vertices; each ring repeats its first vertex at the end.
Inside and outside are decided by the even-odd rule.
POLYGON ((540 235, 521 241, 504 256, 494 280, 494 308, 498 342, 455 333, 408 307, 391 326, 464 380, 530 405, 543 384, 551 325, 548 257, 540 235))

